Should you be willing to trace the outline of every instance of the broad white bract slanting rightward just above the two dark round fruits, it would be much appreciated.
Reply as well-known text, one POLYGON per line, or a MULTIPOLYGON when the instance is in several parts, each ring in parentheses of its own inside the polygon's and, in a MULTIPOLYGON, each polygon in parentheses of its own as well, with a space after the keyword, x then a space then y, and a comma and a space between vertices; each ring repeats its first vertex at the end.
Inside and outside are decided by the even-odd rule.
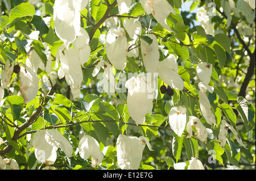
POLYGON ((174 54, 159 62, 158 75, 164 83, 176 89, 183 90, 184 82, 178 74, 178 65, 174 54))

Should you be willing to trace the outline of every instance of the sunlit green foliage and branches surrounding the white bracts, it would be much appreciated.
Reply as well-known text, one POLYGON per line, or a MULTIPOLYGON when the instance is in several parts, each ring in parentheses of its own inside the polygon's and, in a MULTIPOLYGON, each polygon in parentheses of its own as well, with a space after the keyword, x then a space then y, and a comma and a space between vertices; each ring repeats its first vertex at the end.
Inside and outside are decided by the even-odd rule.
MULTIPOLYGON (((208 6, 210 1, 191 1, 189 11, 181 11, 181 0, 168 2, 177 11, 176 15, 170 14, 167 18, 168 26, 175 32, 175 36, 156 23, 152 15, 146 15, 138 1, 134 1, 130 11, 122 16, 118 15, 117 2, 114 0, 109 0, 109 3, 103 0, 89 2, 86 9, 81 11, 81 26, 89 33, 92 51, 82 70, 84 77, 79 100, 72 98, 65 79, 57 78, 56 84, 51 85, 46 81, 49 74, 39 69, 38 96, 24 104, 19 90, 19 77, 13 73, 10 89, 5 89, 1 102, 0 137, 4 141, 0 145, 2 158, 15 159, 19 169, 42 169, 46 165, 36 162, 31 138, 39 129, 55 128, 71 142, 74 151, 83 133, 96 138, 101 150, 105 151, 104 161, 97 169, 118 169, 115 144, 119 134, 143 135, 150 140, 154 151, 144 149, 140 169, 174 169, 175 163, 188 163, 191 157, 196 156, 207 169, 225 169, 226 165, 255 169, 255 16, 250 20, 249 15, 236 6, 237 0, 233 1, 236 9, 230 11, 222 7, 228 1, 214 1, 216 14, 210 16, 210 24, 213 26, 210 34, 206 32, 207 28, 202 27, 202 22, 202 26, 196 22, 199 19, 193 11, 203 7, 207 12, 212 8, 208 6), (105 14, 106 11, 109 14, 105 14), (127 95, 115 93, 115 96, 110 96, 98 92, 97 79, 92 77, 98 58, 103 56, 108 61, 102 36, 106 35, 111 26, 115 26, 109 20, 110 16, 116 18, 121 27, 124 19, 138 17, 143 26, 142 36, 148 31, 158 38, 162 47, 159 49, 159 61, 170 53, 179 57, 177 62, 179 74, 184 80, 184 90, 175 90, 172 97, 158 90, 152 115, 147 114, 146 123, 138 127, 127 111, 127 95), (233 134, 229 134, 225 148, 222 149, 217 140, 220 127, 210 126, 201 116, 196 75, 199 60, 213 64, 210 86, 214 87, 214 92, 209 93, 208 98, 217 125, 220 125, 221 120, 229 121, 247 149, 238 144, 233 134), (186 138, 184 134, 178 137, 172 132, 167 117, 171 108, 178 105, 187 107, 187 117, 200 117, 205 127, 212 129, 206 143, 197 140, 195 136, 186 138), (210 150, 216 153, 216 163, 208 161, 210 150)), ((53 69, 55 57, 62 41, 54 31, 53 5, 54 1, 51 0, 0 1, 1 69, 7 60, 19 65, 25 64, 31 49, 35 49, 45 63, 46 55, 42 45, 45 42, 51 49, 52 71, 56 71, 53 69), (31 40, 28 35, 35 30, 40 31, 39 39, 31 40)), ((250 10, 255 15, 255 10, 250 10)), ((145 71, 140 57, 127 59, 125 73, 145 71)), ((119 72, 116 70, 115 74, 119 72)), ((163 85, 161 79, 158 84, 159 89, 163 85)), ((79 154, 73 153, 73 157, 67 159, 58 150, 57 161, 53 166, 56 169, 94 169, 90 164, 90 158, 83 161, 79 154)))

